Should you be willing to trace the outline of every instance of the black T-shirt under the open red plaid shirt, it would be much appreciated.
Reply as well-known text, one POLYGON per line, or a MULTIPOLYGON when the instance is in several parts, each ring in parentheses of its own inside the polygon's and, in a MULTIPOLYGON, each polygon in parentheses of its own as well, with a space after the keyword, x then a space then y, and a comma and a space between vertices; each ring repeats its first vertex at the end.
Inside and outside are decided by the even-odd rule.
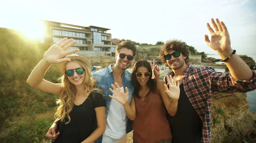
POLYGON ((201 143, 203 123, 187 97, 183 84, 180 85, 180 98, 177 113, 167 114, 172 129, 172 143, 201 143))

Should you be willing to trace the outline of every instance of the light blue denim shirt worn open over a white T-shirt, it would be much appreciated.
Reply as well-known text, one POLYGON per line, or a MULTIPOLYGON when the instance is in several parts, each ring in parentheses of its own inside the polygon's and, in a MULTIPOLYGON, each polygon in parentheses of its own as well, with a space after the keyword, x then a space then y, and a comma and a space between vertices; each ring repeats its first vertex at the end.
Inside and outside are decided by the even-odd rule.
MULTIPOLYGON (((93 78, 96 81, 96 85, 98 88, 102 89, 103 94, 105 95, 105 100, 106 100, 106 119, 108 118, 108 110, 110 108, 111 100, 108 95, 112 95, 111 91, 109 88, 111 87, 111 84, 114 84, 114 75, 113 75, 113 70, 111 69, 111 66, 109 65, 108 67, 98 70, 98 71, 93 71, 93 78)), ((131 72, 128 70, 125 70, 125 72, 122 74, 122 84, 125 92, 125 87, 128 88, 129 90, 129 104, 131 103, 131 98, 132 94, 134 92, 134 86, 131 84, 131 72)), ((127 120, 126 124, 126 133, 129 133, 132 131, 132 121, 127 120)), ((102 140, 102 136, 100 137, 102 140)), ((99 139, 100 139, 99 138, 99 139)), ((99 139, 95 143, 101 143, 101 140, 99 139)))

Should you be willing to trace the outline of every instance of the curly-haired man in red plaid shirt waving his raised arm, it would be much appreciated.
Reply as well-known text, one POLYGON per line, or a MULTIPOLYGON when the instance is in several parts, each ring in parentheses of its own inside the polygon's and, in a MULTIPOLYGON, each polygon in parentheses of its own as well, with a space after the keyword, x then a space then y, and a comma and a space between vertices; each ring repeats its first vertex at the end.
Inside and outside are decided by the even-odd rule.
MULTIPOLYGON (((177 113, 168 115, 172 129, 172 143, 209 143, 211 135, 212 92, 248 92, 256 89, 256 73, 236 55, 230 45, 230 36, 224 22, 211 20, 214 30, 207 23, 211 40, 205 42, 221 56, 230 72, 217 73, 211 67, 192 67, 189 64, 189 48, 185 42, 170 40, 163 45, 160 58, 180 81, 180 97, 177 113)), ((164 78, 166 80, 166 77, 164 78)), ((167 82, 166 82, 167 84, 167 82)))

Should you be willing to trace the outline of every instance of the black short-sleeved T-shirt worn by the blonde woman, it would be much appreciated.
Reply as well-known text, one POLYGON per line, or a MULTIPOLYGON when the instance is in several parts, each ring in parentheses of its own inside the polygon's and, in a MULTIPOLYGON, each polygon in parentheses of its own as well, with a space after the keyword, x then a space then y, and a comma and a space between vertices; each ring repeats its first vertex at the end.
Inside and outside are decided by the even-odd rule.
MULTIPOLYGON (((90 93, 81 105, 74 105, 70 112, 70 123, 59 123, 60 135, 54 143, 81 143, 97 128, 94 108, 106 106, 101 93, 90 93)), ((68 118, 65 118, 68 121, 68 118)))

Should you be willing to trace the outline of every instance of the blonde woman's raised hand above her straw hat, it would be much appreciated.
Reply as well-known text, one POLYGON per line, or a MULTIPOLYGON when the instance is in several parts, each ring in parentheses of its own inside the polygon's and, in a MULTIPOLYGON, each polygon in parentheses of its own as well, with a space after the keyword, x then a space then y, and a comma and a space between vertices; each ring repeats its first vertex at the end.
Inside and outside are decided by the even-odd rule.
POLYGON ((61 62, 70 61, 69 58, 63 58, 63 57, 67 56, 71 53, 75 53, 75 52, 79 51, 79 49, 67 50, 68 48, 70 48, 74 44, 76 44, 76 41, 74 41, 73 39, 67 40, 67 38, 63 38, 59 42, 52 45, 44 53, 44 58, 50 64, 58 64, 58 63, 61 63, 61 62))

